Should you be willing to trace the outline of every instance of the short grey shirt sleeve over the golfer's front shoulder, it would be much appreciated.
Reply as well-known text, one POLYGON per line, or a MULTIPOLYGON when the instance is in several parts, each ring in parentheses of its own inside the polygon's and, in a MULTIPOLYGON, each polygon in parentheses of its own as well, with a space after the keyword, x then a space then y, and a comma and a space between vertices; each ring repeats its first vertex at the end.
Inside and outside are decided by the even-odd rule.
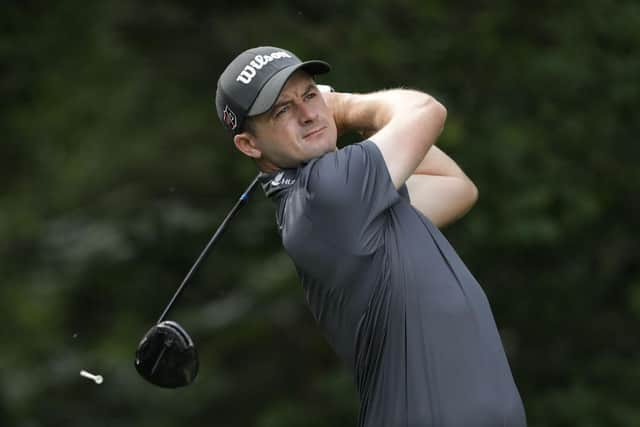
POLYGON ((306 216, 314 234, 350 252, 375 250, 389 209, 401 199, 378 147, 349 145, 314 160, 306 172, 306 216))

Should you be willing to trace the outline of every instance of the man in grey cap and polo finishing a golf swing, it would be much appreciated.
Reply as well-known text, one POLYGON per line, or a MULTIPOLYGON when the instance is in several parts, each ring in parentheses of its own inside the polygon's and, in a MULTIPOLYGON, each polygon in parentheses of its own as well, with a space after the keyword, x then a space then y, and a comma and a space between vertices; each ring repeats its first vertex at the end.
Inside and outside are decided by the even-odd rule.
POLYGON ((486 296, 438 230, 477 190, 434 143, 446 117, 413 90, 321 93, 322 61, 250 49, 216 108, 263 172, 307 303, 353 370, 360 426, 525 426, 486 296), (340 132, 370 137, 336 149, 340 132))

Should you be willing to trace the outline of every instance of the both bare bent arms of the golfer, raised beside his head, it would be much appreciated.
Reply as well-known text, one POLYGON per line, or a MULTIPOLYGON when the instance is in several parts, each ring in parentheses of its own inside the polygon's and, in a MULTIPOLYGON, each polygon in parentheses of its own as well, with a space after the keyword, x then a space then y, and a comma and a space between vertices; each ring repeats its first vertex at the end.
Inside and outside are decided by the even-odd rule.
POLYGON ((396 188, 406 182, 412 205, 436 226, 451 223, 473 206, 477 188, 449 156, 433 146, 446 118, 446 109, 435 99, 409 90, 325 98, 338 129, 371 136, 396 188))

